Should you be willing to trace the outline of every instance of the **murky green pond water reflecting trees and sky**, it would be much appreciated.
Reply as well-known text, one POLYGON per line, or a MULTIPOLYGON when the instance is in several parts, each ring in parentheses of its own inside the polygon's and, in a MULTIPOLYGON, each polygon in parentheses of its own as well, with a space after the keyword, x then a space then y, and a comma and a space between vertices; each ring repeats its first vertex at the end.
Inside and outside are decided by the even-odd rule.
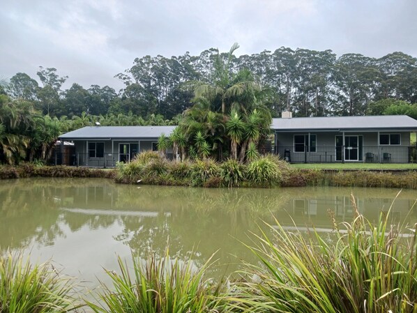
MULTIPOLYGON (((200 189, 116 185, 104 179, 31 178, 0 181, 0 247, 24 248, 33 261, 53 259, 69 275, 96 285, 103 268, 116 268, 116 254, 145 255, 151 248, 203 263, 218 250, 221 271, 251 259, 243 243, 262 221, 277 218, 331 231, 328 209, 339 222, 358 210, 370 220, 388 211, 399 190, 351 188, 200 189), (241 243, 243 242, 243 243, 241 243)), ((417 222, 415 190, 393 204, 394 222, 417 222), (414 206, 414 208, 412 208, 414 206), (410 208, 411 211, 410 211, 410 208)))

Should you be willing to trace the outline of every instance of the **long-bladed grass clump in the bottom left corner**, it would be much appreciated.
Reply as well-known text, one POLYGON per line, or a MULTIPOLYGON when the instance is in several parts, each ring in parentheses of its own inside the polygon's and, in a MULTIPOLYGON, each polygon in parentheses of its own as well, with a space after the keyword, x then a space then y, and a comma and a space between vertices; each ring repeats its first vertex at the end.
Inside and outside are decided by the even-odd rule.
POLYGON ((80 305, 73 298, 73 284, 46 262, 31 266, 22 253, 0 255, 0 312, 70 312, 80 305))

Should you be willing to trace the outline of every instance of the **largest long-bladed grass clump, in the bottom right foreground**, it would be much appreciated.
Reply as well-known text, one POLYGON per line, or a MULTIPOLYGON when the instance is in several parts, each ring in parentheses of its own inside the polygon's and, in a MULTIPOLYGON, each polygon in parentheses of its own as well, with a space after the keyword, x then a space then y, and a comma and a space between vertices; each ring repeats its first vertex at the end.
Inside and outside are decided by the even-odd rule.
POLYGON ((417 241, 388 227, 389 212, 373 225, 358 213, 335 223, 335 238, 312 230, 289 233, 278 220, 250 247, 260 264, 243 272, 229 297, 240 312, 417 312, 417 241))

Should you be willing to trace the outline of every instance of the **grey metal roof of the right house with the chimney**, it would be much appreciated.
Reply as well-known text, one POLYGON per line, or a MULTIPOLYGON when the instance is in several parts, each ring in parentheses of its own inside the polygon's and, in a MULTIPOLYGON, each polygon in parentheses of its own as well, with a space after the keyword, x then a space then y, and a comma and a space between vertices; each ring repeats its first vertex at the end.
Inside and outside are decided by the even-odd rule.
POLYGON ((417 130, 417 121, 407 115, 321 116, 272 119, 271 128, 280 131, 328 130, 417 130))

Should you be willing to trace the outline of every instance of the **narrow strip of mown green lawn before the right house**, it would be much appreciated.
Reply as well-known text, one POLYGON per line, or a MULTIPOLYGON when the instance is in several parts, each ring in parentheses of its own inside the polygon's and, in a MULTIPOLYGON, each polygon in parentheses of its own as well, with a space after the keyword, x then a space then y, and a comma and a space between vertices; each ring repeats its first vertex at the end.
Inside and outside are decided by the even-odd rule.
POLYGON ((416 163, 297 163, 291 164, 297 169, 417 169, 416 163))

